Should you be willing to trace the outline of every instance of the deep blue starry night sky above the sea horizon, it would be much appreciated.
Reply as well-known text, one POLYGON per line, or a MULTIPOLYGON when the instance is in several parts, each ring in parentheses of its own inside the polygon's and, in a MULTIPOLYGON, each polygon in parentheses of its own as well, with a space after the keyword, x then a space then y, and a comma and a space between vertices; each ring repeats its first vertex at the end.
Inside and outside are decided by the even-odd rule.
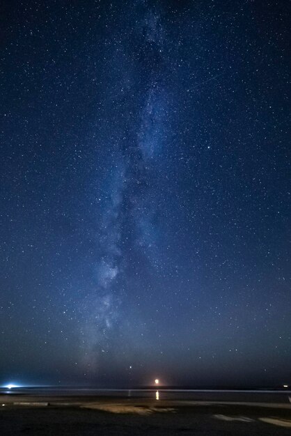
POLYGON ((291 383, 290 3, 1 3, 0 384, 291 383))

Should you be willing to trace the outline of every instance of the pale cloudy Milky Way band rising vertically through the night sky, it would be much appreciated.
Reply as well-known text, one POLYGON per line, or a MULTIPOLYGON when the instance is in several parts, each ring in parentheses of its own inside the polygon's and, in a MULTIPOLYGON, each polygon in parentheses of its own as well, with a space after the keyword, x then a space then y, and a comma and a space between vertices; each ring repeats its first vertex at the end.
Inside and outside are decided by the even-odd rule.
MULTIPOLYGON (((112 352, 119 355, 120 348, 123 348, 112 341, 112 336, 123 334, 124 323, 135 328, 126 318, 126 311, 123 313, 125 320, 120 317, 120 304, 130 304, 126 293, 126 273, 129 271, 130 274, 132 269, 134 252, 139 253, 141 262, 146 257, 152 267, 160 266, 156 190, 168 119, 167 95, 162 81, 166 72, 162 56, 166 36, 157 11, 142 8, 135 13, 139 20, 136 20, 134 34, 148 79, 136 110, 138 128, 113 144, 110 141, 107 144, 110 162, 106 166, 105 194, 100 198, 102 215, 96 224, 100 256, 96 267, 96 290, 86 297, 86 303, 81 307, 86 318, 86 327, 81 329, 81 342, 85 345, 82 358, 88 362, 88 371, 95 373, 100 369, 100 352, 109 352, 112 359, 112 352), (156 64, 163 65, 155 68, 156 64), (123 283, 124 292, 120 290, 120 283, 123 283)), ((118 43, 126 52, 122 41, 118 43)), ((137 84, 133 83, 123 91, 124 98, 132 98, 134 87, 139 86, 139 76, 136 81, 137 84)), ((126 115, 121 122, 123 130, 130 123, 126 115)), ((130 341, 130 334, 126 340, 130 341)))

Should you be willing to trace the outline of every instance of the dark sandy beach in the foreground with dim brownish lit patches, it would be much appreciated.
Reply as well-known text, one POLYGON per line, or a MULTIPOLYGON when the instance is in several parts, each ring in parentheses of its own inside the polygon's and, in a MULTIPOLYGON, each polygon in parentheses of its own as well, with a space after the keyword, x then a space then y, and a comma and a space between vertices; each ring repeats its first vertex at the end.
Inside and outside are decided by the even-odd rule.
POLYGON ((288 405, 39 396, 0 402, 1 436, 291 435, 288 405))

